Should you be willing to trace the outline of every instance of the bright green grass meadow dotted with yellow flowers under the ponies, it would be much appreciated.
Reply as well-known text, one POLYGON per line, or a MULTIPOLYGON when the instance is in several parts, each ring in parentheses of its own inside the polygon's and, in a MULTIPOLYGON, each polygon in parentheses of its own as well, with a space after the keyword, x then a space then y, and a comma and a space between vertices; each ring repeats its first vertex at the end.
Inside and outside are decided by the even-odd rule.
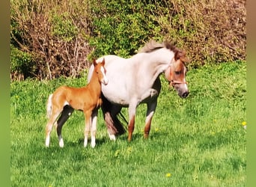
POLYGON ((83 148, 85 122, 75 111, 63 128, 64 148, 55 130, 50 147, 44 147, 49 93, 60 85, 85 85, 85 77, 11 83, 12 186, 246 185, 246 63, 190 70, 186 99, 161 76, 147 141, 145 105, 139 105, 131 143, 127 134, 109 140, 100 111, 97 145, 83 148))

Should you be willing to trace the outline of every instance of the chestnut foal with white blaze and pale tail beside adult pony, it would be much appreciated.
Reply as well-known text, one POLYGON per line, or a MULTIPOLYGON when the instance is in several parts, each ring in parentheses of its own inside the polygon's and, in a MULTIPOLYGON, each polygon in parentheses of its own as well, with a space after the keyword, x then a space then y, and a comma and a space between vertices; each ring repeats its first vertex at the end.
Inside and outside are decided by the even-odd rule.
POLYGON ((54 93, 49 95, 47 102, 47 116, 49 122, 46 124, 46 147, 49 147, 50 133, 53 123, 57 126, 59 146, 64 147, 61 137, 61 129, 74 109, 83 111, 85 114, 85 141, 84 147, 88 143, 88 134, 91 131, 91 147, 95 147, 95 135, 97 129, 97 113, 102 103, 101 83, 107 85, 109 80, 106 78, 104 67, 105 59, 101 63, 94 60, 94 72, 91 81, 82 88, 71 88, 61 86, 54 93), (58 116, 61 116, 58 118, 58 116), (57 120, 58 118, 58 120, 57 120), (56 121, 57 120, 57 121, 56 121))

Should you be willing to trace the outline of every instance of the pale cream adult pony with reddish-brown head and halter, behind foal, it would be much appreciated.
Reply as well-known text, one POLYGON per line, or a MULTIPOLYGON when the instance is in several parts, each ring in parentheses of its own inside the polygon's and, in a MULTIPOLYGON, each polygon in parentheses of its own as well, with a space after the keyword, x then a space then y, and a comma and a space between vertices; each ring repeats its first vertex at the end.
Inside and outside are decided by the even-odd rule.
MULTIPOLYGON (((161 90, 159 75, 165 73, 170 85, 178 95, 186 98, 189 95, 185 79, 188 61, 186 53, 169 42, 156 43, 151 40, 131 58, 121 58, 116 55, 106 55, 97 61, 106 60, 109 84, 103 85, 102 110, 109 138, 115 140, 115 135, 125 132, 124 126, 118 119, 122 107, 128 107, 128 141, 132 140, 135 126, 135 111, 140 103, 147 104, 147 117, 144 126, 144 138, 150 132, 151 120, 157 105, 157 97, 161 90)), ((88 73, 90 80, 91 67, 88 73)))

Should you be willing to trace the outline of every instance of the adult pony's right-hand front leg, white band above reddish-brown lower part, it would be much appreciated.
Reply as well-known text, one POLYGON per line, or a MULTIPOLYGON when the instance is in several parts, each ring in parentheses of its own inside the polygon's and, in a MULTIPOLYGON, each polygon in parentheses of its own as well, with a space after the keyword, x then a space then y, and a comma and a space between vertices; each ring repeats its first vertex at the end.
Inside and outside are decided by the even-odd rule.
POLYGON ((151 120, 154 114, 154 111, 156 110, 157 100, 147 103, 147 117, 144 127, 144 138, 148 138, 148 135, 150 133, 150 126, 151 126, 151 120))

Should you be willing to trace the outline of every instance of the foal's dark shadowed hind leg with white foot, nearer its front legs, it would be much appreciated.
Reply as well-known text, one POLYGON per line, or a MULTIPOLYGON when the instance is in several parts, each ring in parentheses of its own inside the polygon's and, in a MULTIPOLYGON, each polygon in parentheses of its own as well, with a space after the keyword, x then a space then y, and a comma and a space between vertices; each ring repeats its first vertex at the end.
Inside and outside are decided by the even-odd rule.
POLYGON ((65 105, 63 111, 61 112, 61 117, 57 121, 57 135, 58 135, 58 144, 60 147, 64 147, 64 141, 61 136, 61 129, 67 119, 70 117, 74 109, 70 105, 65 105))

